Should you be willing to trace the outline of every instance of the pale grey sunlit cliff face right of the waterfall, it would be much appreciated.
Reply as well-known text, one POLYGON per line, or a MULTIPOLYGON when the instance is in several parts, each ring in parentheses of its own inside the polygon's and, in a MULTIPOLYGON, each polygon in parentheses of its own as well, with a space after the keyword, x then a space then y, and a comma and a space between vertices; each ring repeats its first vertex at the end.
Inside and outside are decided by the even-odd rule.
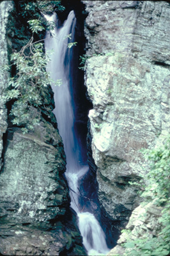
POLYGON ((124 227, 139 198, 128 181, 147 172, 139 151, 169 133, 169 14, 166 1, 83 1, 85 81, 98 196, 124 227))

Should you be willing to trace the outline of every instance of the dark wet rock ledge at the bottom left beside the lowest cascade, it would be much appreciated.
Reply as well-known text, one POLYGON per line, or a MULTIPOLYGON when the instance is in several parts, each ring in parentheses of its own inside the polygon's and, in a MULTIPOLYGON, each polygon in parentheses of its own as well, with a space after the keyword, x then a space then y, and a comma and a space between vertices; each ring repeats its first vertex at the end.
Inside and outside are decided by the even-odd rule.
POLYGON ((1 226, 0 253, 2 255, 86 255, 77 225, 71 224, 76 218, 73 212, 69 214, 72 216, 69 221, 68 218, 56 221, 50 230, 41 230, 41 227, 35 228, 29 224, 17 224, 8 228, 6 225, 1 226))

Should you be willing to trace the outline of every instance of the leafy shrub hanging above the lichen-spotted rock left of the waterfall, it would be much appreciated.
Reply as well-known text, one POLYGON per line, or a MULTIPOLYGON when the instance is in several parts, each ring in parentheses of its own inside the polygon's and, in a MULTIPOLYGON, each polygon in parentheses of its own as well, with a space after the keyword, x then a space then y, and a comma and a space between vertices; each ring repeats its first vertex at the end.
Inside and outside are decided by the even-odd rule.
POLYGON ((45 70, 48 60, 43 52, 43 44, 33 43, 32 37, 20 52, 12 54, 11 61, 17 68, 17 74, 9 79, 10 90, 6 93, 6 99, 17 99, 10 115, 14 116, 13 124, 26 125, 23 129, 26 132, 38 124, 40 111, 33 115, 31 109, 35 107, 40 110, 43 104, 43 87, 51 83, 50 76, 45 70))

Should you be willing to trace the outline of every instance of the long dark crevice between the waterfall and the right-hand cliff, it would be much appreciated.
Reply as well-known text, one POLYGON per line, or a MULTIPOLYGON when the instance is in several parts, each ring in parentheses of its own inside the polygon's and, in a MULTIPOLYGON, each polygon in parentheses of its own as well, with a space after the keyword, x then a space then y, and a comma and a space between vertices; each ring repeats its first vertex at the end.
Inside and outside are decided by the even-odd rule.
MULTIPOLYGON (((62 3, 62 1, 61 1, 62 3)), ((97 166, 92 157, 91 134, 89 132, 89 109, 93 108, 89 100, 87 88, 84 86, 84 71, 79 69, 80 57, 86 53, 86 38, 84 36, 84 20, 87 13, 84 11, 84 4, 79 1, 63 1, 67 6, 66 10, 74 10, 77 23, 75 26, 75 42, 77 47, 73 49, 72 72, 74 74, 72 81, 72 104, 75 110, 75 134, 79 145, 81 146, 82 162, 89 164, 89 172, 80 181, 80 200, 79 204, 84 205, 83 211, 93 213, 100 221, 100 208, 98 204, 98 183, 96 178, 97 166), (66 2, 66 3, 65 3, 66 2)))

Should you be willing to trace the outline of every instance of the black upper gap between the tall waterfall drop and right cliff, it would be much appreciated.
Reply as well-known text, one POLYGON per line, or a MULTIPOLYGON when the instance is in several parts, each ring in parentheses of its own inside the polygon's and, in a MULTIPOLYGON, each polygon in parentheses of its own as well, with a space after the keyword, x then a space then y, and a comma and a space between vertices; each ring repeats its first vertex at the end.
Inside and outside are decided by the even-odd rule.
POLYGON ((84 12, 84 4, 79 0, 73 1, 61 1, 61 4, 65 6, 65 12, 58 14, 59 20, 63 22, 68 13, 73 10, 77 19, 75 25, 75 37, 74 41, 77 42, 76 47, 72 49, 72 62, 70 72, 73 74, 70 84, 70 91, 72 94, 72 106, 75 115, 74 131, 77 137, 77 141, 81 148, 82 162, 87 161, 87 149, 86 149, 86 134, 88 132, 88 112, 93 106, 87 99, 87 88, 84 86, 84 71, 79 69, 81 60, 80 56, 85 54, 86 38, 84 36, 84 19, 86 19, 86 13, 84 12))

